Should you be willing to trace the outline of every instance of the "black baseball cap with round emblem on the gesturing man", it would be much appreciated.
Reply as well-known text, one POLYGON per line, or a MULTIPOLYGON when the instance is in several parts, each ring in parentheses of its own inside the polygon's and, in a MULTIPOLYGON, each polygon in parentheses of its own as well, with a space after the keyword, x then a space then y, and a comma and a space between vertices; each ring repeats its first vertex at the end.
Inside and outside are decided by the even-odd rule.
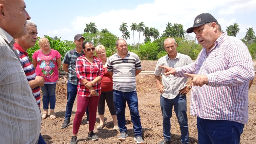
POLYGON ((210 23, 210 22, 216 22, 218 23, 218 21, 209 13, 202 13, 199 14, 194 21, 194 25, 193 27, 190 27, 187 29, 187 33, 191 33, 194 30, 194 27, 200 27, 206 23, 210 23))

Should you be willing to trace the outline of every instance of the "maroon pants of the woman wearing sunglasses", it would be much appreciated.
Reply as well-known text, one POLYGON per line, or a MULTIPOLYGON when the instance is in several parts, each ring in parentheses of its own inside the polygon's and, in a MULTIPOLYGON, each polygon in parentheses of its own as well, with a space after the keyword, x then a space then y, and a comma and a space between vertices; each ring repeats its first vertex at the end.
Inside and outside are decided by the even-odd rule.
POLYGON ((81 97, 77 96, 77 110, 75 113, 74 124, 73 124, 73 134, 76 135, 78 133, 79 127, 81 125, 82 118, 85 114, 85 110, 89 104, 89 131, 94 130, 95 122, 96 122, 96 113, 97 113, 97 105, 99 102, 99 97, 81 97))

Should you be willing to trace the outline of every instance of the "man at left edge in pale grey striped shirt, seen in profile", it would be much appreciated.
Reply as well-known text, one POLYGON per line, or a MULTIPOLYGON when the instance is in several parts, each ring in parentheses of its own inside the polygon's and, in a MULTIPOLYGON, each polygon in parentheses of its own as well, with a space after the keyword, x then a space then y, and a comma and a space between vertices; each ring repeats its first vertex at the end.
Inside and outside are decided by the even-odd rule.
POLYGON ((23 0, 0 0, 0 143, 35 144, 41 127, 33 96, 14 39, 27 34, 30 19, 23 0))

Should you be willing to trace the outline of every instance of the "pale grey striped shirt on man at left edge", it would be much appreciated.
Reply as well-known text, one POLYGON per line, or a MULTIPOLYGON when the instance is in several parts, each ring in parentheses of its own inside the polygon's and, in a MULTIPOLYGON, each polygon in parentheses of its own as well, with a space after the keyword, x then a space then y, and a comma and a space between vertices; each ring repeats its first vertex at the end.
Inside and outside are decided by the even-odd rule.
POLYGON ((12 46, 10 34, 0 28, 0 143, 37 143, 41 113, 12 46))

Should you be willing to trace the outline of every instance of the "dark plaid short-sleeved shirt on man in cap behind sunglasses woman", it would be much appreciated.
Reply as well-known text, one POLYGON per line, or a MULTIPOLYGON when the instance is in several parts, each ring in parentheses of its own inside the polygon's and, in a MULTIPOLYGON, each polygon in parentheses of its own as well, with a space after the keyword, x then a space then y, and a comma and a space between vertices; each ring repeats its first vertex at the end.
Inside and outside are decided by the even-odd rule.
POLYGON ((81 51, 81 54, 79 54, 76 49, 72 49, 68 51, 65 54, 65 57, 63 59, 63 63, 66 63, 69 65, 68 70, 69 70, 69 78, 68 80, 72 83, 77 85, 78 84, 78 79, 76 77, 75 73, 75 64, 76 64, 76 59, 80 56, 84 55, 84 52, 81 51))

